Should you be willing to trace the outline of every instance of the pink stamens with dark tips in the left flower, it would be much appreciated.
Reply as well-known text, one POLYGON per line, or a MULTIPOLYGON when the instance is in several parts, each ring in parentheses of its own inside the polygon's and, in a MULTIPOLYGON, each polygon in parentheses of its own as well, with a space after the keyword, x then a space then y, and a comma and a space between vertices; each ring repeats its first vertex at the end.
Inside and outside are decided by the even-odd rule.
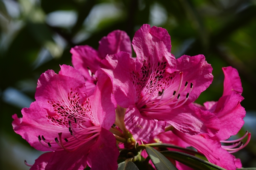
POLYGON ((47 141, 43 135, 39 135, 38 140, 44 147, 48 147, 52 150, 66 150, 67 152, 74 152, 81 145, 97 137, 99 135, 99 132, 101 131, 100 126, 82 126, 76 120, 76 118, 75 123, 78 125, 79 128, 73 128, 71 121, 69 121, 69 132, 72 135, 70 137, 63 138, 61 132, 58 133, 58 137, 56 137, 54 141, 47 141), (42 140, 44 143, 42 142, 42 140))

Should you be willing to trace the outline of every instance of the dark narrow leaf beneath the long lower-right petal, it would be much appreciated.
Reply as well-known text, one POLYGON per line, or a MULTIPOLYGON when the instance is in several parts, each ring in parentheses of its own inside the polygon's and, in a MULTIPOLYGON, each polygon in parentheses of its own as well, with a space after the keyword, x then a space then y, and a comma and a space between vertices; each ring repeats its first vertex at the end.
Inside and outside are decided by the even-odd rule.
POLYGON ((162 151, 161 153, 165 156, 168 156, 170 158, 173 158, 181 162, 184 165, 187 165, 197 170, 226 170, 222 167, 219 167, 215 164, 212 164, 208 161, 200 159, 196 156, 189 155, 187 153, 170 151, 170 150, 162 151))

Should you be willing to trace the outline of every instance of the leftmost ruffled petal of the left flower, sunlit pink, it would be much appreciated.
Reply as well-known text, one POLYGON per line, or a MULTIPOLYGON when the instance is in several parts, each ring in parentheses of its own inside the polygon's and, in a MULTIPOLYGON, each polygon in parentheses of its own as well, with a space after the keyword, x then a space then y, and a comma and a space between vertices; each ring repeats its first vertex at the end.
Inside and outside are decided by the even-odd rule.
MULTIPOLYGON (((60 132, 62 132, 62 136, 70 136, 69 129, 66 126, 56 125, 50 119, 47 119, 47 111, 38 106, 37 102, 31 103, 30 108, 23 108, 21 113, 23 115, 22 122, 14 127, 14 131, 37 150, 52 151, 52 149, 39 143, 38 135, 43 135, 49 141, 58 137, 60 132)), ((47 146, 46 143, 45 145, 47 146)))

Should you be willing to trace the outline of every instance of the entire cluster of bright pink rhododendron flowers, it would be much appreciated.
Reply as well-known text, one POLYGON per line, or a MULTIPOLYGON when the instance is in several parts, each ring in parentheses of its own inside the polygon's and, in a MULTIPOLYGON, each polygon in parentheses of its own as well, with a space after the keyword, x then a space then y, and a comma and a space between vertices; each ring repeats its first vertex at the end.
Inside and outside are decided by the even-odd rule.
MULTIPOLYGON (((163 28, 145 24, 132 43, 116 30, 99 41, 98 51, 85 45, 70 52, 74 68, 62 65, 59 74, 43 73, 36 101, 21 110, 22 118, 13 115, 17 134, 35 149, 50 151, 30 170, 116 170, 117 159, 141 160, 147 153, 140 144, 151 143, 184 150, 192 146, 220 167, 242 167, 231 153, 247 145, 250 133, 227 141, 244 124, 236 69, 223 68, 222 97, 202 106, 194 102, 212 83, 212 67, 203 55, 175 59, 163 28), (129 151, 125 156, 119 152, 123 148, 129 151)), ((172 162, 180 170, 189 169, 172 162)))

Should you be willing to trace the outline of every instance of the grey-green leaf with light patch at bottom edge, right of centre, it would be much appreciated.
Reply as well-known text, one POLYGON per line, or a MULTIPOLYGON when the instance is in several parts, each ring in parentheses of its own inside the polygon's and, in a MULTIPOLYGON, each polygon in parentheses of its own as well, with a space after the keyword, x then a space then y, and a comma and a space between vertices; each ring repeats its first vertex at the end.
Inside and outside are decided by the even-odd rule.
POLYGON ((157 170, 178 170, 172 162, 170 162, 162 153, 155 150, 153 147, 146 146, 146 152, 148 153, 151 161, 155 165, 157 170))

